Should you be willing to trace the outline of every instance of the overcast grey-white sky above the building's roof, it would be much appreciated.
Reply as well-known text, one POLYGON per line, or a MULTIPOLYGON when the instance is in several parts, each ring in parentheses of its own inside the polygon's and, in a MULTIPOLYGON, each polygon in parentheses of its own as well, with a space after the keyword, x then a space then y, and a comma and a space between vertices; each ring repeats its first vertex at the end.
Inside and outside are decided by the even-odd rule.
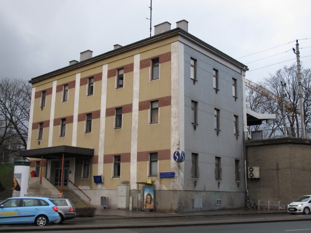
MULTIPOLYGON (((0 0, 0 78, 30 80, 79 61, 82 51, 97 56, 145 39, 149 6, 150 0, 0 0)), ((189 33, 248 66, 246 78, 254 82, 296 63, 296 39, 302 66, 311 68, 311 0, 153 0, 152 8, 152 35, 159 23, 174 29, 186 19, 189 33)))

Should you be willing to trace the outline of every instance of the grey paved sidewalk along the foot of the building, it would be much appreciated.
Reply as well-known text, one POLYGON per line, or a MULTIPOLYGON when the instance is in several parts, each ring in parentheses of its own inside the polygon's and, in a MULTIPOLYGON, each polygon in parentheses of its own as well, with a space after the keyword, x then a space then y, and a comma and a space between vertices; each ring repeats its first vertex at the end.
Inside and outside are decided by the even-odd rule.
POLYGON ((287 214, 286 210, 248 210, 247 208, 196 211, 190 213, 162 213, 142 210, 112 210, 99 208, 95 217, 103 219, 112 218, 145 218, 145 217, 181 217, 181 216, 222 216, 222 215, 255 215, 255 214, 287 214))

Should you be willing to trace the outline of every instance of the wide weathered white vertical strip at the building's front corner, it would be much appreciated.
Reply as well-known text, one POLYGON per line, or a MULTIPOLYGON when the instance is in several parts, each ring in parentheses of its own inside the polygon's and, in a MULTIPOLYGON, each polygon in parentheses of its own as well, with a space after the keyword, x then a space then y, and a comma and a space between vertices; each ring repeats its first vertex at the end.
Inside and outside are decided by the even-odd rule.
POLYGON ((173 160, 173 152, 180 148, 183 149, 184 144, 180 141, 183 132, 180 132, 180 125, 183 121, 180 121, 180 115, 184 112, 181 111, 180 106, 183 102, 183 45, 180 42, 174 42, 171 44, 171 171, 175 172, 175 179, 171 179, 171 190, 181 189, 181 181, 183 180, 183 171, 179 170, 179 165, 173 160), (181 177, 182 176, 182 177, 181 177))

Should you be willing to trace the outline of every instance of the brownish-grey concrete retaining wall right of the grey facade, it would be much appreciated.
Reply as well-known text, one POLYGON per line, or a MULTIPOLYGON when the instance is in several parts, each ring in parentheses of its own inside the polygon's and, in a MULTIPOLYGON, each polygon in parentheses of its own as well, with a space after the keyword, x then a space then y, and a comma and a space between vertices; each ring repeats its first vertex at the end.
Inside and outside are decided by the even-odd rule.
POLYGON ((311 194, 311 140, 282 138, 246 141, 248 166, 259 166, 260 178, 247 179, 250 198, 279 200, 285 206, 311 194))

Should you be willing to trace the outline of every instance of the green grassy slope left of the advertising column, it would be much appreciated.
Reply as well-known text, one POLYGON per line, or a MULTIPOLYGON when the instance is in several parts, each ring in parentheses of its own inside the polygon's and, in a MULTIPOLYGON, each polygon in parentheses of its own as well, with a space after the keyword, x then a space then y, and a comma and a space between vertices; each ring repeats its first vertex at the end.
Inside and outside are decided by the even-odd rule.
POLYGON ((0 200, 12 197, 14 164, 0 165, 0 200))

